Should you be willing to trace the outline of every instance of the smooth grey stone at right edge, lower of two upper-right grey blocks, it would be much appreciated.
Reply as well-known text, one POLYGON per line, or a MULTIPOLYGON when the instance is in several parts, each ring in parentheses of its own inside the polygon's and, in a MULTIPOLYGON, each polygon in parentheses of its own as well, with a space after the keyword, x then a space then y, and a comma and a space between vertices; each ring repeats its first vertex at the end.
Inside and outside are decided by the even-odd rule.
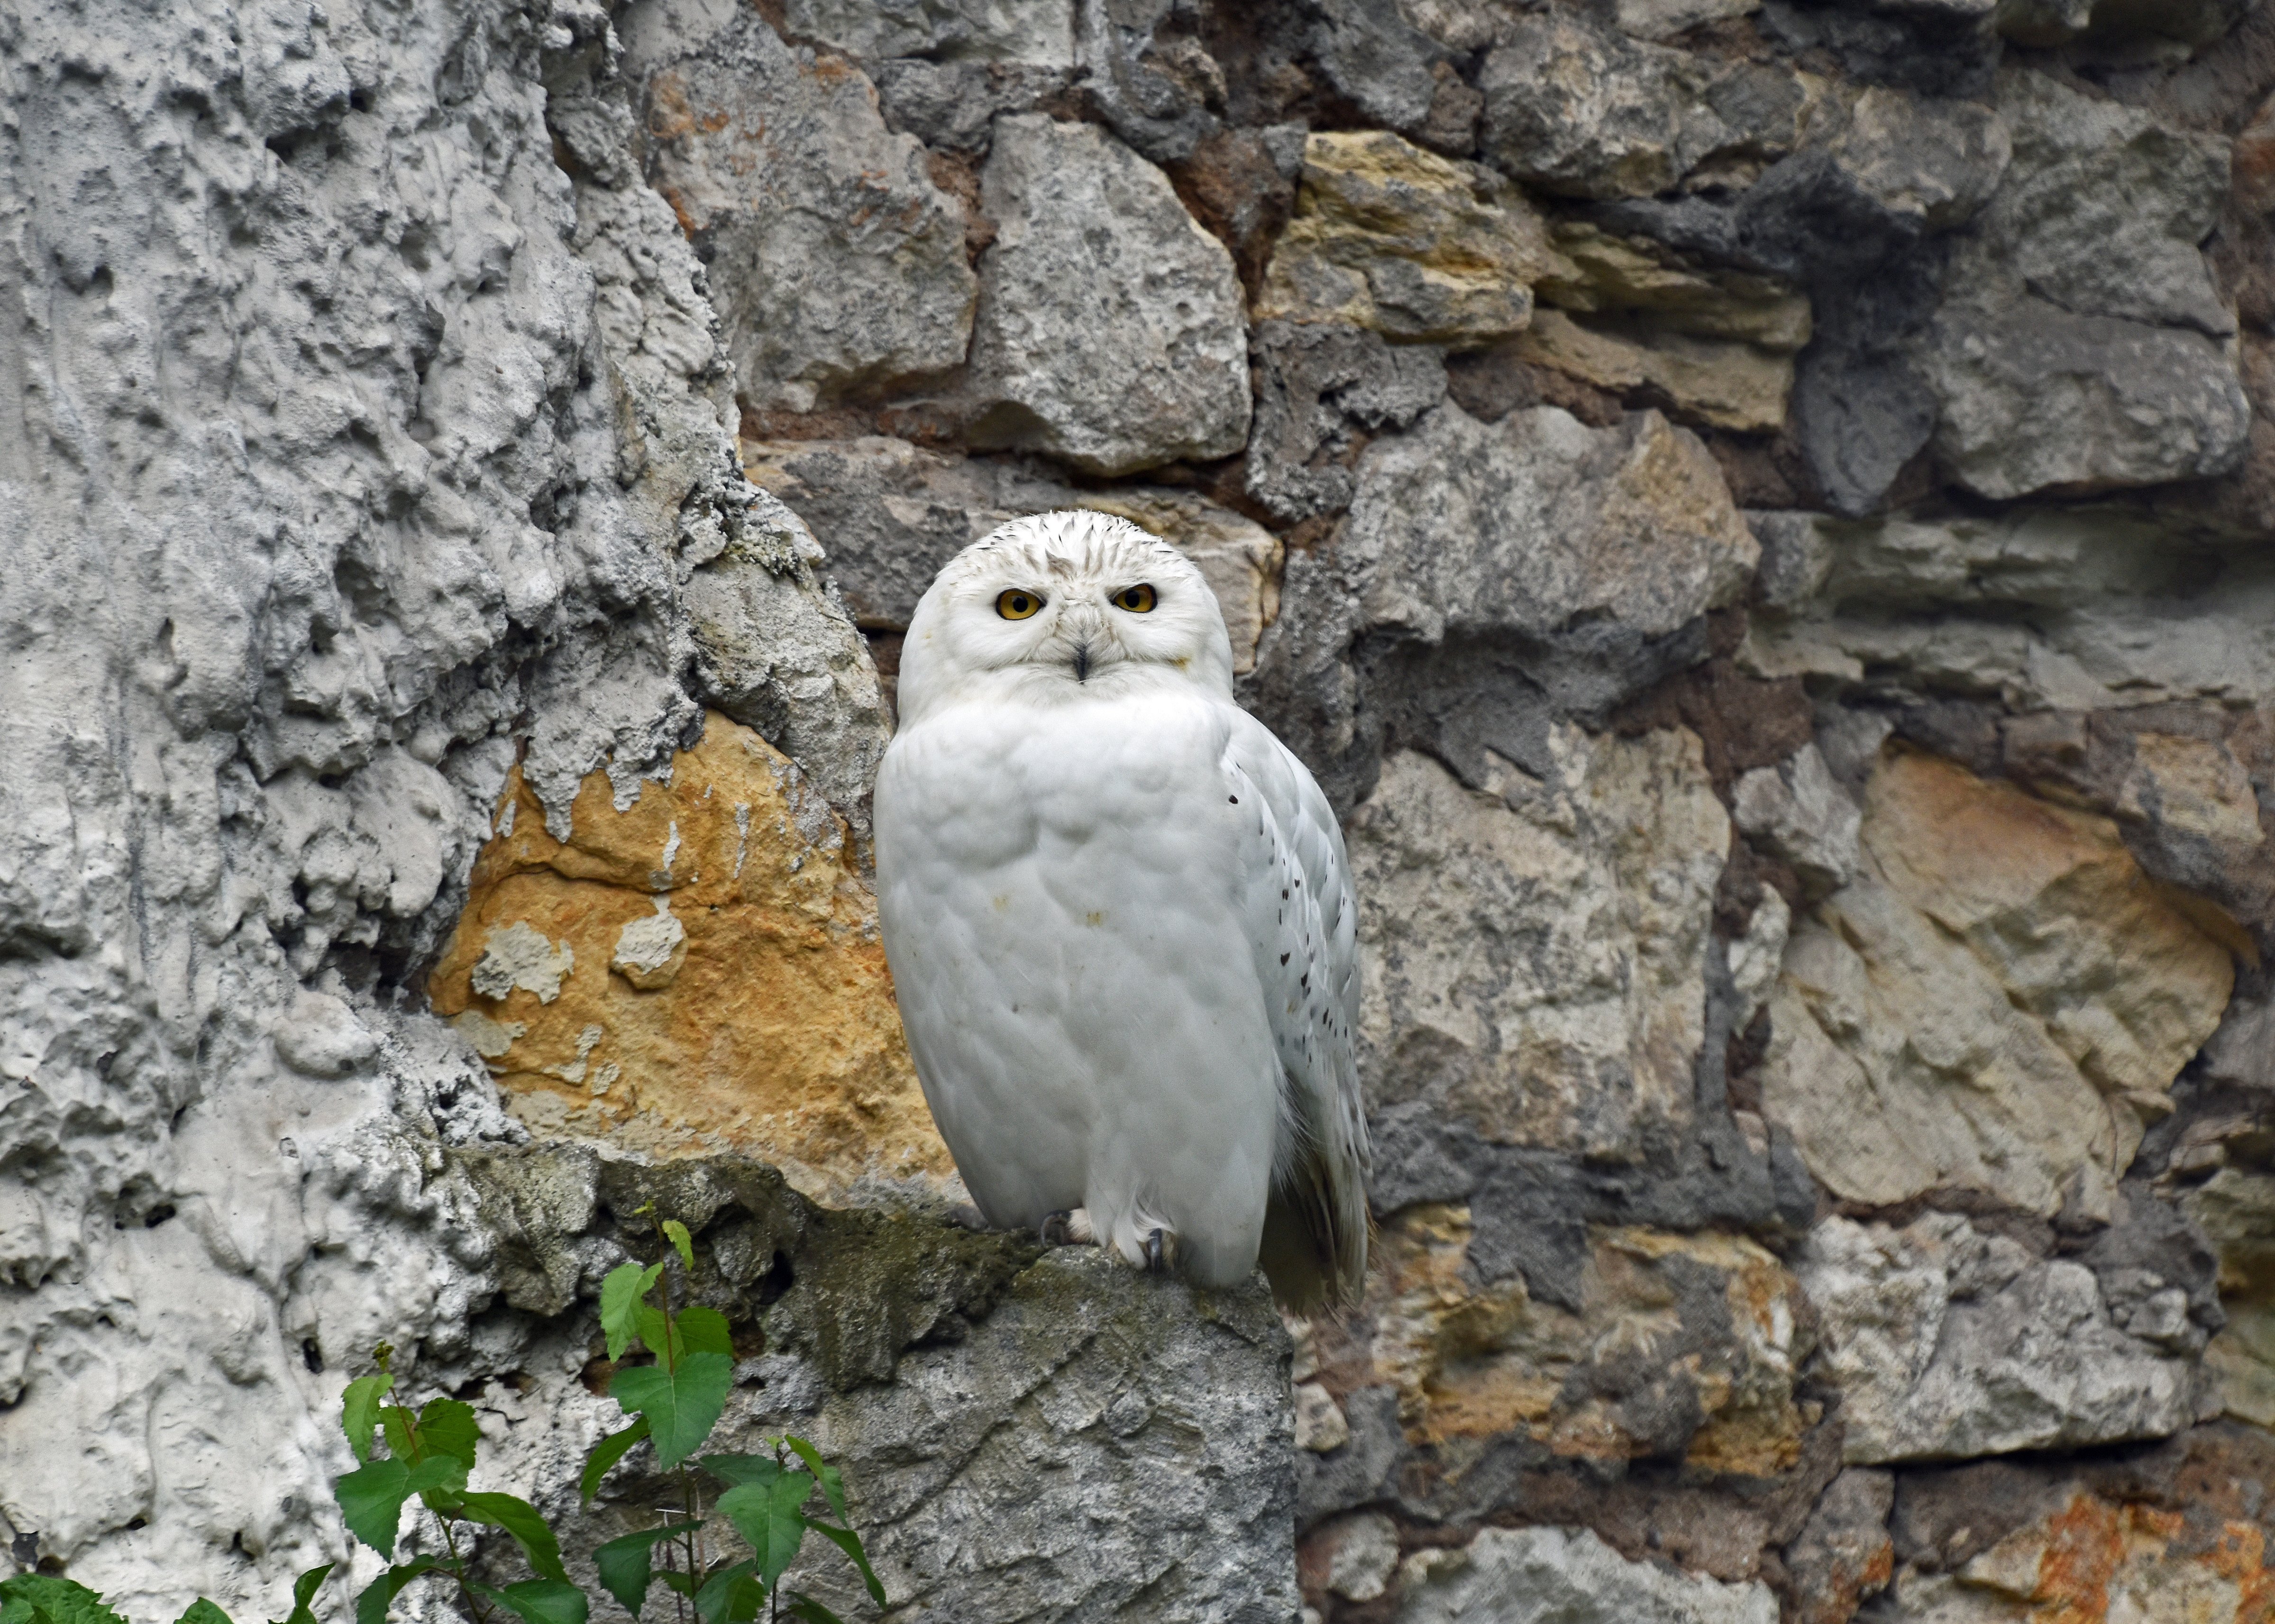
POLYGON ((2198 332, 2070 316, 2041 300, 1945 309, 1922 359, 1936 455, 1993 498, 2204 480, 2243 466, 2250 400, 2198 332))

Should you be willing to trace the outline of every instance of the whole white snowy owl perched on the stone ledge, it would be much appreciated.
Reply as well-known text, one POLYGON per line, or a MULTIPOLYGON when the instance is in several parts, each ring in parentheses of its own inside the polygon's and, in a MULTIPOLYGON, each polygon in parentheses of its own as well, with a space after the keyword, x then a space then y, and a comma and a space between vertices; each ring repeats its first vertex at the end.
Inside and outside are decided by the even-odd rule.
POLYGON ((908 1049, 990 1224, 1290 1308, 1358 1296, 1356 908, 1304 764, 1233 703, 1201 573, 1019 519, 901 651, 876 878, 908 1049))

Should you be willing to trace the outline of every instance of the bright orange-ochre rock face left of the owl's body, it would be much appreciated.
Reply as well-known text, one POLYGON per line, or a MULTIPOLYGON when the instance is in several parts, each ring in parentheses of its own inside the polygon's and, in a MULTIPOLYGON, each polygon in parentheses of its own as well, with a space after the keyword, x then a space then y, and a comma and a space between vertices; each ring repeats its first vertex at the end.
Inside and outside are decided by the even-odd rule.
POLYGON ((748 1151, 828 1199, 953 1171, 892 1001, 876 901, 799 769, 712 714, 619 812, 546 832, 516 771, 428 980, 516 1117, 648 1155, 748 1151))

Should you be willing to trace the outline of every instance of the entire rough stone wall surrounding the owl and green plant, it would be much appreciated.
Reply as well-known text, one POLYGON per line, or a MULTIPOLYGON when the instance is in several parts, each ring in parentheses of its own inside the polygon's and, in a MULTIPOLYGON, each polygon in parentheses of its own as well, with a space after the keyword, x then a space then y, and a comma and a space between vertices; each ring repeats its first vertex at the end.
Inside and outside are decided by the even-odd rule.
POLYGON ((2275 1617, 2275 5, 0 66, 0 1572, 369 1581, 382 1340, 639 1526, 571 1485, 655 1203, 896 1619, 2275 1617), (1065 505, 1345 817, 1333 1319, 946 1217, 869 782, 933 571, 1065 505))

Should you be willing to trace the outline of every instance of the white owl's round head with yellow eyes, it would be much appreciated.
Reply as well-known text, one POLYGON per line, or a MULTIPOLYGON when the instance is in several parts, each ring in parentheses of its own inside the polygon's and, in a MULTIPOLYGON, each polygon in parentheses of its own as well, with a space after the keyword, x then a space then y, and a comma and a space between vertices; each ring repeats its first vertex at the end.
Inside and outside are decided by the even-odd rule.
POLYGON ((1224 612, 1183 553, 1128 519, 1015 519, 967 546, 901 646, 901 726, 960 701, 1081 703, 1199 685, 1231 698, 1224 612))

